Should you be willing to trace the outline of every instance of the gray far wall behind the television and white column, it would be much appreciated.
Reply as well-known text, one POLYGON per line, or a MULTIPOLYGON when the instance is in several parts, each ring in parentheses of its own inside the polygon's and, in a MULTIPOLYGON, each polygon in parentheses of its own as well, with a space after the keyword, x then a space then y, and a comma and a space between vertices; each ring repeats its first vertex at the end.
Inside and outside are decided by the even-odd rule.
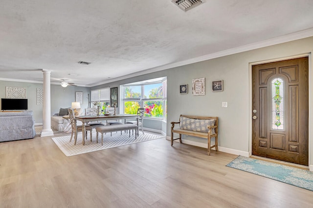
MULTIPOLYGON (((28 110, 33 111, 36 124, 43 122, 43 106, 37 105, 37 88, 43 89, 43 84, 0 81, 0 98, 5 98, 5 87, 23 87, 26 88, 26 98, 28 99, 28 110)), ((84 103, 82 108, 88 106, 89 87, 67 86, 63 88, 61 85, 51 85, 51 114, 59 113, 60 108, 68 108, 71 102, 75 102, 75 92, 83 92, 84 103)))

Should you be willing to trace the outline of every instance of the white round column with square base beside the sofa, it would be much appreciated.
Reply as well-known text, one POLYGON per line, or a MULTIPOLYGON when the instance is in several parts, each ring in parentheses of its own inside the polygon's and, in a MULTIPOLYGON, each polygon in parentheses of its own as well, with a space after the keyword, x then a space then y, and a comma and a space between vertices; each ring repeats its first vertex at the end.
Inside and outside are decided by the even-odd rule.
POLYGON ((51 95, 50 95, 50 74, 51 71, 43 69, 44 73, 44 103, 43 103, 43 130, 41 137, 52 136, 53 131, 51 129, 51 95))

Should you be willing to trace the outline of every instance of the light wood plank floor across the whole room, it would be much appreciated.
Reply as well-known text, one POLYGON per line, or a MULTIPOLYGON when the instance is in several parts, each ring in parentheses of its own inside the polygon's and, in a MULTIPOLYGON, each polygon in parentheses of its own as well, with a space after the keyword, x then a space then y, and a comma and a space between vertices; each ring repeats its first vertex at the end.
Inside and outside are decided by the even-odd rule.
POLYGON ((165 139, 71 157, 50 137, 2 142, 0 208, 313 206, 313 191, 225 167, 236 157, 165 139))

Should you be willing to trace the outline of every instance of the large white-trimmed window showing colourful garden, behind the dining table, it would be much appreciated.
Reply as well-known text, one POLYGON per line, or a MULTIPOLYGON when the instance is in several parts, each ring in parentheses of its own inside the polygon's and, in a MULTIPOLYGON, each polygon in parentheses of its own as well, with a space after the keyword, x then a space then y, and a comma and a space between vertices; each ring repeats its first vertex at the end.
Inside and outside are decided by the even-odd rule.
POLYGON ((136 114, 138 108, 144 107, 145 117, 166 119, 166 77, 125 84, 121 89, 124 113, 136 114))

